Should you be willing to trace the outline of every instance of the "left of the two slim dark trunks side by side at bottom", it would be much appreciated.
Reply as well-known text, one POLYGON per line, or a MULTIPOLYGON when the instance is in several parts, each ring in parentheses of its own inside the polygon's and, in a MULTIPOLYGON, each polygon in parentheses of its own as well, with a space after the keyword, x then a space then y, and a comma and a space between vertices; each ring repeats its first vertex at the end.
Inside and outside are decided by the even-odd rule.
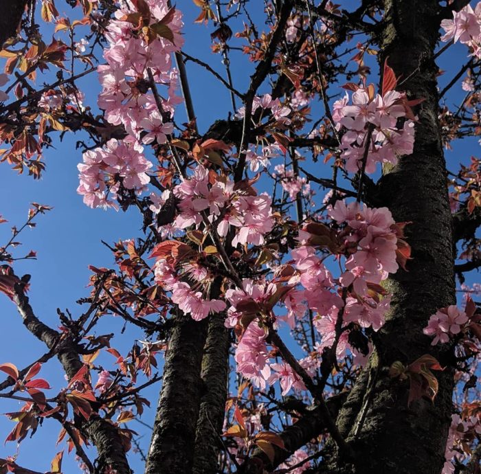
POLYGON ((146 474, 192 472, 195 431, 204 389, 201 379, 207 320, 179 311, 166 351, 146 474))

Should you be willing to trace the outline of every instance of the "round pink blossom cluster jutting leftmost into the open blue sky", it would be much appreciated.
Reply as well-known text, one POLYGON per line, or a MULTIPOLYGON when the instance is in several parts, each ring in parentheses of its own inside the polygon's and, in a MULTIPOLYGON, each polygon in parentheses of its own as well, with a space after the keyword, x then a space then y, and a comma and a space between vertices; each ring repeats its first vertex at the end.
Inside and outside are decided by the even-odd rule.
POLYGON ((137 194, 146 189, 150 181, 147 171, 152 163, 143 155, 144 148, 135 142, 119 142, 110 139, 103 148, 95 148, 83 154, 80 185, 77 192, 89 207, 116 207, 113 199, 122 185, 137 194))

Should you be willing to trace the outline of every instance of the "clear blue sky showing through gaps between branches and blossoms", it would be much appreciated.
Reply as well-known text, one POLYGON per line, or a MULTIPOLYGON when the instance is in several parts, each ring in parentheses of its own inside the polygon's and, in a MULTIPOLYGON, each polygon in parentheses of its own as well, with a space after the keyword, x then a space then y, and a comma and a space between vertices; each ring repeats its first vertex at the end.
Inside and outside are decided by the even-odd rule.
MULTIPOLYGON (((60 13, 63 10, 67 14, 71 12, 69 7, 63 7, 63 2, 57 1, 57 3, 60 13)), ((258 5, 258 12, 254 14, 254 18, 261 17, 262 3, 251 2, 253 5, 258 5)), ((342 6, 350 8, 350 5, 357 5, 357 3, 343 2, 342 6)), ((186 23, 186 44, 183 49, 188 54, 210 63, 214 69, 224 75, 221 56, 210 52, 212 27, 193 24, 199 10, 191 1, 178 2, 177 6, 183 10, 186 23)), ((455 45, 440 57, 438 63, 441 69, 449 71, 440 77, 441 87, 456 74, 457 69, 454 65, 462 65, 466 62, 466 53, 465 47, 455 45)), ((243 91, 247 88, 252 65, 240 52, 233 53, 231 63, 235 87, 243 91)), ((373 73, 376 70, 374 63, 373 73)), ((231 111, 230 95, 215 78, 197 65, 188 63, 188 75, 199 128, 201 131, 206 131, 214 120, 227 117, 227 113, 231 111)), ((375 82, 375 80, 373 76, 372 81, 375 82)), ((42 79, 39 78, 39 82, 41 81, 42 79)), ((96 75, 91 75, 80 84, 85 91, 86 102, 95 104, 100 90, 96 75)), ((449 101, 459 103, 463 96, 464 91, 458 84, 449 95, 449 101)), ((178 123, 186 121, 182 105, 179 106, 176 121, 178 123)), ((21 234, 23 250, 25 253, 30 249, 36 250, 38 260, 15 264, 17 274, 32 274, 30 291, 32 306, 38 317, 53 327, 58 326, 56 308, 69 308, 74 315, 81 312, 81 308, 75 302, 89 292, 86 288, 90 275, 88 265, 110 267, 113 264, 111 252, 100 243, 100 240, 115 242, 141 234, 142 222, 137 213, 91 210, 82 203, 81 197, 76 193, 78 186, 76 166, 82 159, 80 151, 75 148, 77 139, 80 139, 80 135, 67 134, 63 142, 54 140, 54 147, 45 150, 47 170, 39 181, 34 181, 26 175, 18 175, 10 169, 8 164, 0 163, 0 202, 3 203, 0 206, 0 214, 9 221, 8 224, 0 225, 0 242, 10 238, 9 225, 21 225, 25 221, 27 210, 33 201, 54 207, 54 210, 37 219, 36 228, 27 229, 24 234, 21 234)), ((478 142, 474 139, 456 144, 454 150, 446 155, 449 168, 456 170, 459 162, 467 162, 471 155, 478 155, 478 147, 478 142)), ((324 174, 322 172, 320 174, 328 177, 330 170, 326 168, 324 174)), ((321 190, 320 194, 322 193, 321 190)), ((468 282, 474 281, 478 281, 476 274, 468 279, 468 282)), ((31 363, 32 359, 41 356, 45 352, 45 346, 23 328, 21 318, 6 297, 0 295, 0 303, 2 330, 5 331, 0 347, 0 363, 12 362, 19 368, 23 368, 31 363)), ((136 332, 132 328, 124 335, 120 335, 121 328, 122 321, 109 318, 99 328, 98 334, 115 332, 118 336, 115 337, 113 345, 121 352, 126 352, 131 347, 133 339, 142 339, 143 335, 142 332, 136 332)), ((105 361, 106 365, 113 362, 107 355, 100 357, 98 361, 105 361)), ((65 385, 56 360, 44 365, 41 376, 49 380, 54 387, 65 385)), ((158 390, 157 385, 146 392, 146 396, 152 400, 153 409, 157 402, 158 390)), ((0 413, 17 409, 19 405, 16 402, 5 400, 2 401, 0 413)), ((150 410, 146 411, 142 419, 151 422, 152 418, 153 410, 150 410)), ((5 438, 13 426, 13 422, 0 417, 0 440, 5 438)), ((144 434, 141 443, 144 448, 147 447, 150 439, 148 430, 136 422, 131 422, 128 427, 144 434)), ((27 438, 22 442, 19 464, 37 471, 47 471, 50 460, 57 451, 60 451, 59 447, 54 445, 59 430, 57 422, 46 420, 45 427, 39 429, 32 440, 27 438)), ((0 457, 12 455, 15 452, 14 443, 10 442, 6 446, 0 443, 0 457)), ((136 472, 142 471, 138 456, 133 456, 132 460, 133 469, 136 472)), ((75 472, 74 466, 73 457, 66 456, 64 471, 75 472)))

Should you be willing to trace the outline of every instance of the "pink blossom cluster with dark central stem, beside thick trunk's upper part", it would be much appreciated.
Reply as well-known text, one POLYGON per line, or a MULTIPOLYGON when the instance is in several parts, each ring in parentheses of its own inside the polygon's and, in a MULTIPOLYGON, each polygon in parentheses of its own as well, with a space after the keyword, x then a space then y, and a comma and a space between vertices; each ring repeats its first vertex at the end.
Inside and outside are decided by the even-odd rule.
MULTIPOLYGON (((354 86, 353 86, 354 87, 354 86)), ((411 155, 414 146, 414 120, 405 93, 388 91, 374 95, 370 87, 359 88, 333 104, 333 120, 344 131, 340 148, 346 170, 363 168, 372 173, 377 163, 396 164, 401 155, 411 155), (352 104, 350 103, 352 100, 352 104)))

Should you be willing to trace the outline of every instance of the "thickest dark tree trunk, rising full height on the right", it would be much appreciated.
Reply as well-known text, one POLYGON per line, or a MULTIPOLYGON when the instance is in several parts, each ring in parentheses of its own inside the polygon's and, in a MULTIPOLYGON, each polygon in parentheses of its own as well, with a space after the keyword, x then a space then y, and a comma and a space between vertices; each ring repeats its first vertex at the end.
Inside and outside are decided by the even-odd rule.
POLYGON ((339 430, 359 453, 355 465, 327 458, 332 473, 440 474, 450 423, 453 372, 436 372, 439 392, 431 403, 407 406, 408 384, 388 375, 394 361, 412 363, 423 354, 443 357, 423 335, 429 316, 454 304, 454 257, 447 178, 438 124, 434 48, 440 19, 437 0, 385 0, 380 60, 388 58, 418 107, 414 153, 385 170, 379 205, 406 227, 412 258, 408 271, 388 280, 393 294, 385 326, 375 335, 374 354, 338 418, 339 430), (367 383, 366 383, 367 378, 367 383))

